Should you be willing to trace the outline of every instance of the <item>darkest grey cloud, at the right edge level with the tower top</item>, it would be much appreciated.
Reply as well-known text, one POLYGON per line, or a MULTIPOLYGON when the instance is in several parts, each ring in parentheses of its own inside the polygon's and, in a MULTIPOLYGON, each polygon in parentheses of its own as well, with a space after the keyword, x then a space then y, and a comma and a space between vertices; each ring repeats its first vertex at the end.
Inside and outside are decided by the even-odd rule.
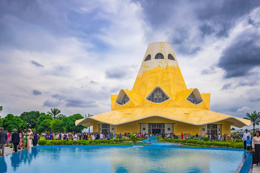
POLYGON ((225 70, 225 78, 252 75, 250 71, 260 66, 259 40, 258 33, 246 29, 222 51, 218 66, 225 70))

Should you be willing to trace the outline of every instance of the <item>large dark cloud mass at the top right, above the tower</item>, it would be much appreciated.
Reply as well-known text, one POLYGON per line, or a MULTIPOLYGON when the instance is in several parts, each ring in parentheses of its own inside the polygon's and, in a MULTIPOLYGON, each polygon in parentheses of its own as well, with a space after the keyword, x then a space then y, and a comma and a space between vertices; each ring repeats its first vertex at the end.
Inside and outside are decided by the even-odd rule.
MULTIPOLYGON (((239 19, 260 5, 257 0, 139 2, 152 31, 169 33, 174 51, 188 55, 202 50, 206 36, 228 37, 239 19)), ((149 39, 153 33, 146 34, 149 39)))

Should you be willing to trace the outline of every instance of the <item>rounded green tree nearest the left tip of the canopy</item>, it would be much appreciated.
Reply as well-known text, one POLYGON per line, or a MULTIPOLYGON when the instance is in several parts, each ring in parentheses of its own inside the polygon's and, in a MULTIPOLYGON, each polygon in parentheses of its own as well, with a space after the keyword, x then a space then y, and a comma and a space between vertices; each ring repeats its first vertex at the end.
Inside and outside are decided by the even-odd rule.
POLYGON ((78 119, 84 118, 81 114, 74 114, 72 116, 67 117, 65 129, 67 132, 82 132, 85 128, 82 125, 76 126, 75 121, 78 119))

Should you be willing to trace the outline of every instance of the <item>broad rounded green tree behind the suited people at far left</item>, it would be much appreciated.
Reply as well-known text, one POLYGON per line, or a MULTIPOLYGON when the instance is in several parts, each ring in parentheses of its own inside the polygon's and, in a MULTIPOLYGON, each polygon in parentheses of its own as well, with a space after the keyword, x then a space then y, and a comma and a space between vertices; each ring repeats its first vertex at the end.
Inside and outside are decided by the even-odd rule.
POLYGON ((14 129, 23 129, 27 128, 26 122, 20 119, 18 116, 13 114, 7 114, 3 119, 3 127, 5 130, 12 132, 14 129))

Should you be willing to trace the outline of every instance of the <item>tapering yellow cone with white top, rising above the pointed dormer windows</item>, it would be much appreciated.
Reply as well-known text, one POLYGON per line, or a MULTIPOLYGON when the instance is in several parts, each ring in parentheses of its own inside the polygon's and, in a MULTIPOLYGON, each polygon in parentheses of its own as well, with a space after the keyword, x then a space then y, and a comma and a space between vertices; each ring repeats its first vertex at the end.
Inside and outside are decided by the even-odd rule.
POLYGON ((173 48, 165 42, 148 45, 132 91, 146 97, 158 86, 173 100, 187 89, 173 48))

